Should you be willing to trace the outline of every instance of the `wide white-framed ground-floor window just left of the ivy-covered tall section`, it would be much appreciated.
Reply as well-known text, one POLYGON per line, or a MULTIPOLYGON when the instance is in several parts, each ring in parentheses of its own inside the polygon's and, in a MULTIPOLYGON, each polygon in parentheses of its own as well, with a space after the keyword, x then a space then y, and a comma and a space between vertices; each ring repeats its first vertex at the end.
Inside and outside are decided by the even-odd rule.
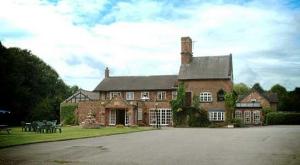
POLYGON ((150 109, 149 110, 149 123, 150 125, 171 125, 172 112, 171 109, 150 109))

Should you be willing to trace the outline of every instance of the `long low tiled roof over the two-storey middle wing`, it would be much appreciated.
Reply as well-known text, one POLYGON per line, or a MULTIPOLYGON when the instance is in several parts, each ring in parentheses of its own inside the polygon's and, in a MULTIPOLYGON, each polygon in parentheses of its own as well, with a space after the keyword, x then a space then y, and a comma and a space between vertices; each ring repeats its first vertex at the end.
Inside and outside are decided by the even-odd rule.
POLYGON ((94 91, 169 90, 176 84, 177 75, 107 77, 94 91))

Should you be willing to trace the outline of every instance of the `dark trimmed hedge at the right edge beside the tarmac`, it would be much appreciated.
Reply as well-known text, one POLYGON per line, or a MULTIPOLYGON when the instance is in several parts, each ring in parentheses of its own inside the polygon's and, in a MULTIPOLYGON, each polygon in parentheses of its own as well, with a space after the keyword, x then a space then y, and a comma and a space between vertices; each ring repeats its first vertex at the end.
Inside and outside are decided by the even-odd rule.
POLYGON ((266 115, 266 124, 268 125, 300 124, 300 113, 270 112, 266 115))

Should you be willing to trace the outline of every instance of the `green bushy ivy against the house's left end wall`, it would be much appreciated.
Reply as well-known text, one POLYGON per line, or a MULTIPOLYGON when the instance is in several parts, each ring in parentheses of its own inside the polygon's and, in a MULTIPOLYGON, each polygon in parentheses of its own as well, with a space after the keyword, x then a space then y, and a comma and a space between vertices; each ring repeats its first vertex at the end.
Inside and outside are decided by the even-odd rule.
POLYGON ((63 124, 73 125, 76 124, 74 111, 77 104, 66 104, 60 107, 60 121, 63 124))

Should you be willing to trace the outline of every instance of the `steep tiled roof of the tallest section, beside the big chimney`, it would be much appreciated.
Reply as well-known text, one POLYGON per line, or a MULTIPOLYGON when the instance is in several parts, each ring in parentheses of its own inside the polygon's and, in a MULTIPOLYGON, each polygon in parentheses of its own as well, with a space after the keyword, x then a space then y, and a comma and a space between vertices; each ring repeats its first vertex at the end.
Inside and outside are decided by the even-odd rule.
POLYGON ((193 57, 189 64, 181 64, 178 79, 231 79, 232 56, 193 57))

